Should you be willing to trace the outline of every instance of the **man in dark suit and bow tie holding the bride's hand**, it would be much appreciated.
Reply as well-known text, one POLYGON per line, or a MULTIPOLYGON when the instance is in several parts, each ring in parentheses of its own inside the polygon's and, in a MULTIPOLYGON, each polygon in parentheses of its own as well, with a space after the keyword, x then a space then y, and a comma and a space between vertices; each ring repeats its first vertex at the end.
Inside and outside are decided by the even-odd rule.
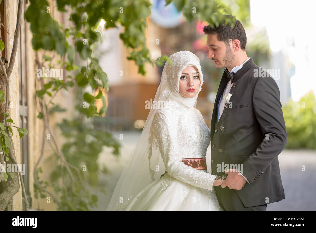
POLYGON ((219 204, 225 211, 266 211, 268 203, 285 198, 278 154, 287 133, 279 88, 248 58, 240 21, 203 31, 207 57, 225 68, 211 121, 212 174, 228 174, 214 187, 219 204))

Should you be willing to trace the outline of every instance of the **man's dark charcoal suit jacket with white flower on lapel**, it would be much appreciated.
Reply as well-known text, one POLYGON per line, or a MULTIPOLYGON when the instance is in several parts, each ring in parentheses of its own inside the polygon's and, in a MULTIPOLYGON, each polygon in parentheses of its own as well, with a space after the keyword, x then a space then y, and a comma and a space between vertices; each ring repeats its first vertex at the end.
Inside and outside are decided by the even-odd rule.
MULTIPOLYGON (((257 72, 258 74, 258 72, 257 72)), ((221 79, 211 121, 213 140, 217 106, 226 85, 229 72, 221 79)), ((230 98, 225 143, 225 161, 242 164, 242 173, 248 179, 241 190, 235 190, 245 207, 265 205, 285 198, 281 181, 278 154, 287 143, 280 91, 275 80, 249 59, 233 77, 234 92, 230 98), (257 71, 263 71, 256 77, 257 71)), ((217 128, 216 128, 217 129, 217 128)), ((212 174, 217 173, 212 164, 212 174)))

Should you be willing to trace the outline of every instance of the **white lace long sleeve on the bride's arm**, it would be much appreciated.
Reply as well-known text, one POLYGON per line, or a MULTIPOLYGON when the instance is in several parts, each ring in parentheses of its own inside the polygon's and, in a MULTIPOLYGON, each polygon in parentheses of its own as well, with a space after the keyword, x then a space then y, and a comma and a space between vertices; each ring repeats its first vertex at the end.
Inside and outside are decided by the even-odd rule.
POLYGON ((153 127, 167 173, 187 184, 212 190, 216 175, 196 170, 182 162, 177 146, 176 123, 172 114, 166 110, 157 111, 153 127))

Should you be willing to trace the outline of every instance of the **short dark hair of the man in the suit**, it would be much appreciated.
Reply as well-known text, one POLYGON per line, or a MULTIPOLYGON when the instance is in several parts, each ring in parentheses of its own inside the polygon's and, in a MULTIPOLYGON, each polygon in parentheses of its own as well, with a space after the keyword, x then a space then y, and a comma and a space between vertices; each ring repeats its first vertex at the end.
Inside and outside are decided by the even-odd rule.
MULTIPOLYGON (((236 19, 234 16, 231 15, 224 15, 226 18, 233 18, 236 19)), ((242 26, 239 20, 236 20, 234 28, 231 28, 230 23, 225 25, 225 21, 222 22, 218 27, 213 25, 207 25, 203 27, 203 32, 205 34, 218 34, 218 40, 225 42, 226 46, 229 45, 229 39, 232 40, 239 40, 240 41, 240 48, 242 50, 246 49, 247 37, 244 27, 242 26)))

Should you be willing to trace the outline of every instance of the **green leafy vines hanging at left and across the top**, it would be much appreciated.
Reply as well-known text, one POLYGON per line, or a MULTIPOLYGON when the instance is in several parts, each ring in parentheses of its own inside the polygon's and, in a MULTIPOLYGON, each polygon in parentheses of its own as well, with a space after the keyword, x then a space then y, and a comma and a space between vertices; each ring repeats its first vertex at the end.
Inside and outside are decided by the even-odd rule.
MULTIPOLYGON (((76 98, 75 109, 79 113, 76 118, 64 119, 58 124, 66 141, 62 146, 62 152, 57 150, 53 154, 57 158, 64 156, 67 163, 80 168, 79 173, 76 173, 74 169, 71 171, 71 175, 76 180, 75 187, 70 186, 71 175, 65 166, 55 167, 51 174, 51 184, 43 180, 40 180, 39 184, 45 189, 52 187, 59 194, 58 199, 61 200, 61 205, 58 210, 89 210, 89 207, 95 206, 96 196, 82 190, 77 181, 81 180, 82 175, 89 184, 96 183, 99 169, 97 158, 103 145, 113 148, 114 155, 119 154, 119 144, 110 134, 100 129, 90 129, 87 123, 87 118, 100 117, 106 112, 106 99, 102 91, 108 90, 107 76, 92 53, 92 48, 101 38, 97 26, 100 20, 104 19, 106 29, 117 27, 118 23, 124 27, 124 32, 119 37, 129 50, 127 59, 134 60, 138 66, 138 72, 144 75, 145 64, 154 65, 145 40, 146 18, 150 15, 150 2, 148 0, 57 0, 59 11, 70 11, 69 20, 73 23, 73 27, 70 28, 64 28, 52 18, 47 0, 30 0, 29 2, 25 18, 30 22, 33 33, 33 49, 56 52, 61 60, 65 60, 63 62, 59 60, 58 67, 65 67, 68 72, 76 72, 74 78, 67 75, 61 80, 49 75, 40 77, 42 88, 37 90, 37 98, 39 101, 44 101, 47 95, 49 101, 44 104, 43 112, 40 112, 38 117, 45 121, 46 111, 50 114, 62 111, 53 102, 53 98, 61 89, 68 90, 72 87, 76 87, 78 98, 76 98), (72 41, 69 42, 69 39, 72 41), (75 65, 78 64, 78 61, 75 61, 75 54, 79 54, 81 60, 87 60, 88 65, 75 65), (92 92, 87 92, 87 87, 91 88, 92 92), (93 93, 97 94, 93 95, 93 93), (95 106, 95 101, 98 99, 101 99, 103 103, 99 111, 95 106), (53 106, 49 108, 51 104, 53 106), (87 166, 88 173, 81 171, 83 165, 87 166), (55 183, 60 179, 64 185, 59 187, 55 183)), ((170 0, 166 1, 167 4, 170 2, 170 0)), ((192 22, 194 18, 213 25, 219 25, 223 20, 228 22, 222 14, 230 14, 230 12, 219 1, 174 0, 173 2, 189 22, 192 22)), ((229 21, 234 25, 233 19, 229 21)), ((44 54, 43 60, 49 68, 55 68, 51 65, 53 57, 44 54)), ((166 55, 162 55, 156 64, 162 65, 164 61, 168 61, 166 55)), ((103 171, 106 172, 106 170, 103 171)), ((38 168, 37 177, 41 172, 38 168)), ((45 197, 43 190, 36 184, 34 190, 36 198, 39 194, 41 198, 45 197)))

